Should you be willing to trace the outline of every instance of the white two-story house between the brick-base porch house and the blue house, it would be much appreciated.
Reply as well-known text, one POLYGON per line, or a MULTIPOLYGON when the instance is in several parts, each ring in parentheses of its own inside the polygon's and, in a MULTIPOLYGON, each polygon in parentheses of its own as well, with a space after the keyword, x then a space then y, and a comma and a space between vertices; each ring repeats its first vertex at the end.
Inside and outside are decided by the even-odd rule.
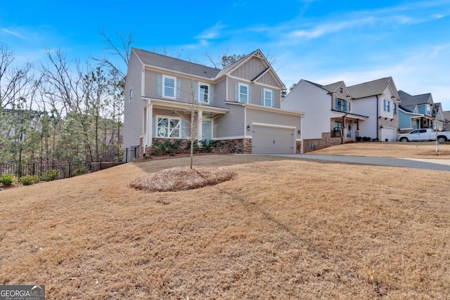
POLYGON ((352 110, 368 119, 359 125, 359 135, 376 141, 397 141, 398 106, 401 102, 392 77, 348 86, 352 110))

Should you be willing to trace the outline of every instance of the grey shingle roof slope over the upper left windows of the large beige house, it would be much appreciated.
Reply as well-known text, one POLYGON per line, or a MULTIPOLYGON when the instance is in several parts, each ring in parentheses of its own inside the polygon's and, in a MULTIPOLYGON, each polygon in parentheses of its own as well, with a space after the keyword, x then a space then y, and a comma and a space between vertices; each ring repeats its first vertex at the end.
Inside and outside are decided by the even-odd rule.
POLYGON ((220 70, 214 69, 214 67, 199 65, 198 63, 191 63, 179 58, 163 56, 162 54, 141 50, 138 48, 133 48, 133 51, 144 65, 160 67, 162 69, 182 72, 207 79, 215 78, 220 72, 220 70))

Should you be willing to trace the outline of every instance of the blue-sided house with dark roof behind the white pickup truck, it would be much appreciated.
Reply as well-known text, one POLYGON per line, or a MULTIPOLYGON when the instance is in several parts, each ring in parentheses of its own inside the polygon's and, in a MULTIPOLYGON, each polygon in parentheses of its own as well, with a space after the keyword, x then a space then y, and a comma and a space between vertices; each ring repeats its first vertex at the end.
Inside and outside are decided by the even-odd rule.
POLYGON ((401 124, 401 126, 399 126, 399 130, 401 132, 420 128, 443 130, 444 113, 442 112, 442 105, 433 103, 431 93, 413 96, 404 91, 399 91, 399 96, 404 112, 409 112, 409 114, 400 115, 399 125, 401 124), (411 124, 411 128, 408 127, 408 124, 411 124))

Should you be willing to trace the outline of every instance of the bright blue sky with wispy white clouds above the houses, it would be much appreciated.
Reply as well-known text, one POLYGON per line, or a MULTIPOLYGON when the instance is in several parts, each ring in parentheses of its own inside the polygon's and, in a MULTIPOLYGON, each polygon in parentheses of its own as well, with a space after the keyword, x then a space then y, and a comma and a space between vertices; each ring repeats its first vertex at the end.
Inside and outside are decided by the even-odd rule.
MULTIPOLYGON (((110 37, 208 64, 205 53, 262 50, 286 87, 392 76, 450 110, 450 1, 3 1, 0 43, 38 65, 45 48, 101 57, 110 37)), ((117 39, 116 39, 117 41, 117 39)))

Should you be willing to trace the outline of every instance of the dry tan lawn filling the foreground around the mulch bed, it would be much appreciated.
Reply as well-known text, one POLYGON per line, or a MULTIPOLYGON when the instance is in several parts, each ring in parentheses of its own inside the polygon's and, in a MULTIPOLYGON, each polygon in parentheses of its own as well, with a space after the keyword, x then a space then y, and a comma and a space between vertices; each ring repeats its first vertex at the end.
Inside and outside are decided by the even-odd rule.
POLYGON ((236 178, 180 192, 129 188, 187 165, 129 163, 1 191, 0 285, 44 284, 47 299, 450 294, 447 172, 210 155, 195 165, 236 178))

